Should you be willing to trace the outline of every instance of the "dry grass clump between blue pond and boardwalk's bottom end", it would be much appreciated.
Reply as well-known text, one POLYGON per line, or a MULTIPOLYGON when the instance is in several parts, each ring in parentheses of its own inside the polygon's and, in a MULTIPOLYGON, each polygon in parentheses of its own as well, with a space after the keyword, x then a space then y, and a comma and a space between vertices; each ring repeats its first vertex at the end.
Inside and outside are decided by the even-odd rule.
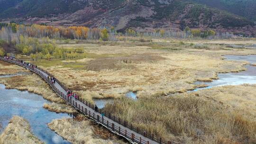
POLYGON ((48 127, 72 144, 125 144, 113 134, 96 128, 81 115, 76 119, 55 119, 48 124, 48 127))

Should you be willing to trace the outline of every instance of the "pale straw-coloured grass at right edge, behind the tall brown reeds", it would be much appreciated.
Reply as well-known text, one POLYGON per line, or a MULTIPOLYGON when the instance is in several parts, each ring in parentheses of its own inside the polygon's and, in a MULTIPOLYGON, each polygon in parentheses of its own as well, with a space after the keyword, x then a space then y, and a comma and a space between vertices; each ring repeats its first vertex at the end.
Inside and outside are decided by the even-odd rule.
POLYGON ((209 90, 192 92, 204 99, 219 102, 225 108, 235 109, 247 119, 256 121, 256 85, 214 87, 209 90))

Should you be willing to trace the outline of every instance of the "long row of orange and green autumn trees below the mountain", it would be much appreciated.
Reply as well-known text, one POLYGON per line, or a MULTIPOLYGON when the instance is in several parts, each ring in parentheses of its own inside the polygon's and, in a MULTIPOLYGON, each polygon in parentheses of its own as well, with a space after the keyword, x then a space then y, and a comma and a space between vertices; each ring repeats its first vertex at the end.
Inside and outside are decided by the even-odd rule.
POLYGON ((153 31, 136 31, 128 28, 123 33, 117 33, 114 27, 108 29, 103 28, 88 28, 88 27, 55 27, 46 25, 19 25, 16 23, 0 24, 0 38, 8 42, 12 41, 12 37, 23 35, 27 37, 49 37, 54 39, 78 39, 78 40, 118 40, 117 36, 139 36, 139 37, 173 37, 173 38, 207 38, 207 39, 222 39, 231 38, 233 33, 220 32, 210 29, 190 29, 185 27, 181 30, 164 30, 155 29, 153 31))

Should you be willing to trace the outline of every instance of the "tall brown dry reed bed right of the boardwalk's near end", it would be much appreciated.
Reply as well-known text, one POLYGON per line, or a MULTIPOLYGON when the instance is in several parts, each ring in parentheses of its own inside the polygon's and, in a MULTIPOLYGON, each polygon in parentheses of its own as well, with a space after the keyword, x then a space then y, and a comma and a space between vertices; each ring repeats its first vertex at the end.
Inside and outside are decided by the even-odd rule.
POLYGON ((227 139, 249 144, 256 136, 256 121, 195 96, 124 98, 105 109, 135 127, 178 143, 224 144, 218 141, 227 139))

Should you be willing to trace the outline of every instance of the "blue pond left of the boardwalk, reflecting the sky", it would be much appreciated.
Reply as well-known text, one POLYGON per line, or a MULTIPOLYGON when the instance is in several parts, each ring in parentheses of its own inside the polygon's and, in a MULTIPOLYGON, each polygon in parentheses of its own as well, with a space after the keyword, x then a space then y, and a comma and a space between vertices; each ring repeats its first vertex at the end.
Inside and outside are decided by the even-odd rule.
POLYGON ((71 144, 47 127, 53 119, 69 117, 68 114, 56 114, 43 108, 49 101, 41 96, 20 90, 7 90, 0 84, 0 132, 8 125, 14 115, 27 119, 31 132, 46 144, 71 144))

